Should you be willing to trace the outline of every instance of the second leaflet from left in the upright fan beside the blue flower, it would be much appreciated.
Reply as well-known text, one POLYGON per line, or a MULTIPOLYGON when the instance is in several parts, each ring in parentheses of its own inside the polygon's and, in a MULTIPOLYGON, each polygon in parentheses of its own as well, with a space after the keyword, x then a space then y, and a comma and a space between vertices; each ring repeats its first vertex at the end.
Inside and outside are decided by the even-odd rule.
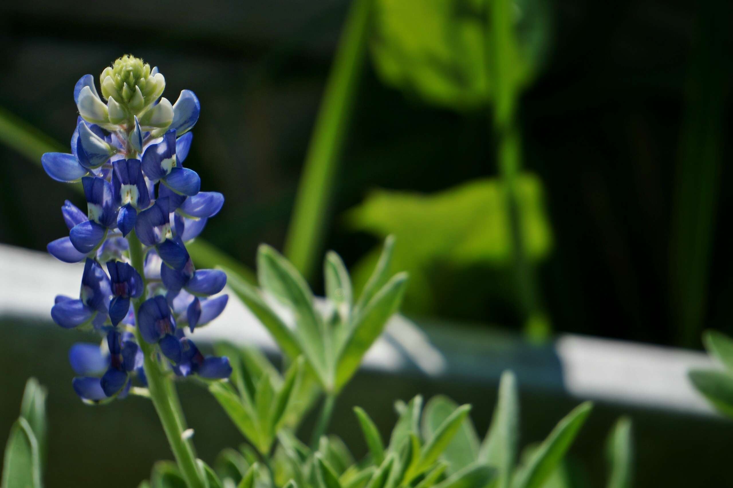
POLYGON ((257 276, 262 289, 291 308, 295 315, 295 334, 301 339, 304 355, 328 390, 331 379, 324 345, 325 326, 315 311, 308 284, 287 259, 268 245, 259 246, 257 276))

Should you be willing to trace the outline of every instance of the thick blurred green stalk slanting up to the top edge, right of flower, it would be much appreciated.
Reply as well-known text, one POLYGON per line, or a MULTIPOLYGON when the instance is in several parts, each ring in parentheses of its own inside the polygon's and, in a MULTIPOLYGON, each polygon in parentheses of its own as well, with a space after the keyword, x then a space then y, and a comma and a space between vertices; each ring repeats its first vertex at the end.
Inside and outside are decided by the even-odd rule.
POLYGON ((367 55, 372 1, 353 0, 349 9, 295 196, 284 252, 306 279, 312 278, 323 245, 336 169, 367 55))

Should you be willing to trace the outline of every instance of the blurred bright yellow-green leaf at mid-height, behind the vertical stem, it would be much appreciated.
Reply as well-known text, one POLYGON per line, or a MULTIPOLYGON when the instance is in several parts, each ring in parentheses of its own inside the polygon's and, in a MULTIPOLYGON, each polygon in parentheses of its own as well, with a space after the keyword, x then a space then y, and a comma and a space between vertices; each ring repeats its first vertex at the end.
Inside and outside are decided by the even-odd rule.
MULTIPOLYGON (((526 256, 537 262, 552 248, 552 232, 545 212, 542 184, 533 174, 517 178, 526 256)), ((479 265, 512 265, 512 229, 504 182, 476 180, 446 191, 422 195, 401 191, 376 191, 347 213, 353 229, 379 237, 394 234, 401 243, 388 269, 406 270, 413 277, 405 304, 413 313, 430 313, 441 281, 432 271, 448 266, 470 269, 479 265)), ((353 270, 355 288, 364 284, 375 267, 377 254, 368 254, 353 270)))

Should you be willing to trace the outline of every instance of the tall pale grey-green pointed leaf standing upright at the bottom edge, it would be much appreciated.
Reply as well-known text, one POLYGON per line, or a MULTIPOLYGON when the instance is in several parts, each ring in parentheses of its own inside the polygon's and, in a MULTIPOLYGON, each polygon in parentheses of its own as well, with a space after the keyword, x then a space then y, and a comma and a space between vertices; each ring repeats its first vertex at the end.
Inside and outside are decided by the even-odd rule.
POLYGON ((519 394, 512 371, 504 371, 489 432, 479 451, 479 462, 496 467, 498 487, 507 488, 517 459, 519 394))

